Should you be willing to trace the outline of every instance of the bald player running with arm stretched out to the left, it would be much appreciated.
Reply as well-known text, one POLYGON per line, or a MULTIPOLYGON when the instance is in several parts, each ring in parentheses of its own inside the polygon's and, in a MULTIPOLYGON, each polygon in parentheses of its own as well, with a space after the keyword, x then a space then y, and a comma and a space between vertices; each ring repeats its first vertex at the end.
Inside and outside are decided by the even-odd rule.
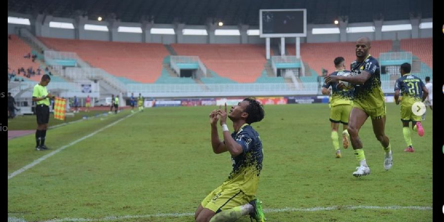
MULTIPOLYGON (((381 88, 380 69, 378 61, 370 55, 371 43, 368 37, 360 37, 356 41, 356 60, 350 65, 351 76, 328 75, 325 82, 346 81, 352 83, 355 88, 353 109, 348 121, 348 133, 350 142, 355 152, 355 157, 360 166, 353 172, 353 176, 361 177, 370 174, 364 149, 359 138, 359 130, 371 118, 373 133, 381 143, 385 152, 384 168, 392 168, 393 156, 389 138, 385 135, 386 107, 385 98, 381 88)), ((338 87, 344 87, 338 83, 338 87)))

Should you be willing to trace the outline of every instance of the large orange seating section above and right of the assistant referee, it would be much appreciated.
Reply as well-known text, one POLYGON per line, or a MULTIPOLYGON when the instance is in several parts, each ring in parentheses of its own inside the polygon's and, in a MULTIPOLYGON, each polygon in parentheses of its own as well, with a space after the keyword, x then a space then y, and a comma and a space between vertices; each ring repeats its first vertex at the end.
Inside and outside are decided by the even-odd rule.
POLYGON ((154 83, 168 51, 159 43, 132 43, 61 38, 39 39, 58 51, 75 52, 91 66, 132 81, 154 83))

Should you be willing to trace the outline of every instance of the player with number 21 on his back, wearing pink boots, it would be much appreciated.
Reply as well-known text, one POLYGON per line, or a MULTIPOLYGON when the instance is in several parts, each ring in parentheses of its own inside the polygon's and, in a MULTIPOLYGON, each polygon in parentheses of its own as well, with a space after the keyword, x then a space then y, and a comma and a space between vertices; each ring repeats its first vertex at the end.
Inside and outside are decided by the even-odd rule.
POLYGON ((427 98, 428 90, 420 78, 410 74, 410 64, 403 63, 399 71, 401 78, 398 78, 395 83, 395 103, 396 105, 400 103, 399 94, 401 91, 403 95, 401 101, 401 121, 403 122, 404 140, 407 143, 407 148, 404 151, 414 152, 408 124, 411 121, 411 128, 417 131, 420 137, 424 136, 424 129, 421 125, 421 116, 415 115, 411 111, 411 107, 415 102, 423 102, 427 98))

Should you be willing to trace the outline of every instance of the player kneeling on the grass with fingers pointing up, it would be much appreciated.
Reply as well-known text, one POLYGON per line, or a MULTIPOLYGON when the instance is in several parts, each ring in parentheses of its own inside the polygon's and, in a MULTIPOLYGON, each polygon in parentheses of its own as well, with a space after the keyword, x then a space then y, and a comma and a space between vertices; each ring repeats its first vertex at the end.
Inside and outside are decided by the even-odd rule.
POLYGON ((259 102, 245 98, 233 106, 227 114, 225 109, 210 113, 211 144, 217 154, 228 151, 233 170, 228 179, 213 190, 201 202, 194 213, 196 222, 231 222, 245 215, 263 222, 262 204, 256 197, 259 175, 262 169, 262 142, 259 134, 250 125, 263 119, 264 111, 259 102), (230 134, 226 117, 233 121, 234 132, 230 134), (219 139, 217 122, 220 120, 223 141, 219 139))

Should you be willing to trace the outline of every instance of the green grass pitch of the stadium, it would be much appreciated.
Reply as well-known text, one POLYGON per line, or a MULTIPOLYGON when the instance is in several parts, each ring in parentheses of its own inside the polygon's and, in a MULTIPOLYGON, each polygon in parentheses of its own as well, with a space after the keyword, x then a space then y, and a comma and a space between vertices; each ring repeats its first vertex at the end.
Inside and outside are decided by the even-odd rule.
MULTIPOLYGON (((8 219, 194 221, 200 201, 231 171, 229 154, 212 152, 213 109, 145 109, 61 150, 8 179, 8 219)), ((352 148, 334 158, 327 104, 265 106, 265 118, 253 127, 263 143, 257 197, 267 220, 432 221, 432 111, 423 122, 425 136, 411 133, 416 151, 406 153, 399 109, 387 104, 393 168, 384 170, 368 119, 360 137, 371 174, 354 178, 352 148)), ((34 150, 34 135, 9 140, 8 175, 129 114, 51 129, 47 151, 34 150)), ((14 120, 8 125, 13 129, 14 120)))

